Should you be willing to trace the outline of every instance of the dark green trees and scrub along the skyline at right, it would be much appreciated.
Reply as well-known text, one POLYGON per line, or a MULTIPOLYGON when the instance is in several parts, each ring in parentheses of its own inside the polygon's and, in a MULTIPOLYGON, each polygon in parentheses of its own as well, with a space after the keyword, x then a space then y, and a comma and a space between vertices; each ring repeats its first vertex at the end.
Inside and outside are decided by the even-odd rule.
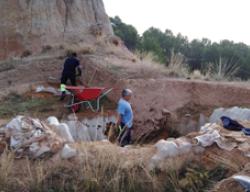
POLYGON ((178 69, 181 71, 188 69, 189 74, 199 70, 202 78, 208 76, 215 80, 249 78, 250 47, 244 43, 230 40, 217 43, 207 38, 189 41, 188 37, 180 33, 174 35, 169 29, 163 32, 154 27, 140 36, 135 27, 123 23, 119 17, 110 20, 115 34, 130 50, 136 50, 141 54, 150 53, 155 61, 170 69, 173 68, 172 58, 179 55, 183 60, 178 64, 178 69))

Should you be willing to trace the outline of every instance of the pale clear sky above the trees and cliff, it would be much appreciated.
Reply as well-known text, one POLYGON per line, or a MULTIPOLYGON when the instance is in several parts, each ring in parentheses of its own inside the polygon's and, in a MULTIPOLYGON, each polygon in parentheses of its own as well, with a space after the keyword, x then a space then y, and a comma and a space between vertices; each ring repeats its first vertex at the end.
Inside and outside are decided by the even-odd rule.
POLYGON ((140 34, 154 26, 189 40, 206 37, 250 45, 250 0, 103 0, 109 16, 118 15, 140 34))

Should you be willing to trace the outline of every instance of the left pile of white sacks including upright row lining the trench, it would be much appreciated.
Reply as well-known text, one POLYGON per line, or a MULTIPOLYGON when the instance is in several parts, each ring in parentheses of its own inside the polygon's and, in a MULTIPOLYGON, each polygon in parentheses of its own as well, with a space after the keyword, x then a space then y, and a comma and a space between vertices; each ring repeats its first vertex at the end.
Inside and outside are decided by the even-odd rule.
POLYGON ((59 122, 56 117, 46 121, 30 117, 17 116, 0 132, 9 140, 9 146, 20 156, 31 158, 45 154, 60 153, 62 159, 77 155, 73 143, 78 141, 105 140, 103 129, 112 117, 95 117, 78 121, 74 115, 67 121, 59 122))

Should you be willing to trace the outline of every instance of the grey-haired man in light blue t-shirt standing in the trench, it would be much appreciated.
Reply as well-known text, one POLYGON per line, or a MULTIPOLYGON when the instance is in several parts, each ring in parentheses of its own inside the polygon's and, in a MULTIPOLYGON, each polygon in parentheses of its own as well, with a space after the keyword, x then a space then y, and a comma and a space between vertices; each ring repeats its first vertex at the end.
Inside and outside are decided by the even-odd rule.
POLYGON ((131 130, 133 128, 133 110, 129 103, 131 97, 132 91, 130 89, 124 89, 122 90, 122 97, 118 102, 117 126, 121 129, 118 137, 120 146, 125 146, 131 143, 131 130))

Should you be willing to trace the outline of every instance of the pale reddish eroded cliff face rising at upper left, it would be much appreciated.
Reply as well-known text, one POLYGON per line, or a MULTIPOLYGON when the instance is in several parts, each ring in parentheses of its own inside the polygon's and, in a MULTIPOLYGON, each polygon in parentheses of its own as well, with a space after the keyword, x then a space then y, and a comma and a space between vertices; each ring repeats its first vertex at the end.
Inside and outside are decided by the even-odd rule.
POLYGON ((2 0, 0 10, 0 60, 113 34, 102 0, 2 0))

